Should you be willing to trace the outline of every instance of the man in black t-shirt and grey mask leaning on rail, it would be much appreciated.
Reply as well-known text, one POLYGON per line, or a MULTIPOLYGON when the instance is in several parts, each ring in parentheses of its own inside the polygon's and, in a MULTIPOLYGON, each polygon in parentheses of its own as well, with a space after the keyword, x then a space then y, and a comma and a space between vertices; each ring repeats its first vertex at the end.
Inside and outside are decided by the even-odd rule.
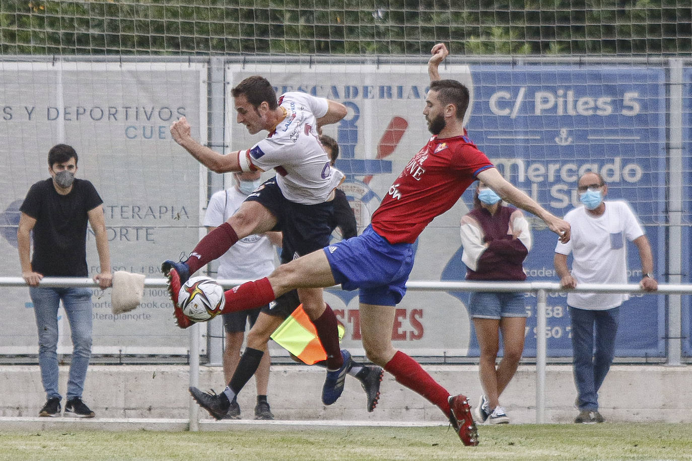
POLYGON ((91 182, 75 179, 77 152, 66 144, 48 151, 51 178, 36 182, 19 211, 19 262, 21 276, 29 285, 39 333, 39 367, 46 391, 46 404, 39 416, 60 416, 57 361, 57 310, 60 300, 70 322, 74 346, 67 382, 65 415, 94 417, 82 402, 86 368, 91 357, 91 289, 42 287, 44 276, 86 277, 86 223, 93 229, 100 273, 93 279, 100 288, 111 286, 111 256, 108 247, 103 200, 91 182), (33 256, 30 257, 33 231, 33 256))

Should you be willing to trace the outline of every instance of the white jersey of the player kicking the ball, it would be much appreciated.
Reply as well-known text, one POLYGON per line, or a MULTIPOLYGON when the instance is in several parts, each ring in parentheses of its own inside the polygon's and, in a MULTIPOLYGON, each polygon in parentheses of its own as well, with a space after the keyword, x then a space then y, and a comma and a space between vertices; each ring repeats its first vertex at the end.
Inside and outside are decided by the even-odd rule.
POLYGON ((252 149, 240 151, 239 160, 262 171, 275 169, 276 183, 291 202, 323 203, 344 178, 329 165, 318 140, 317 119, 327 113, 327 100, 289 91, 281 95, 279 104, 286 117, 252 149))

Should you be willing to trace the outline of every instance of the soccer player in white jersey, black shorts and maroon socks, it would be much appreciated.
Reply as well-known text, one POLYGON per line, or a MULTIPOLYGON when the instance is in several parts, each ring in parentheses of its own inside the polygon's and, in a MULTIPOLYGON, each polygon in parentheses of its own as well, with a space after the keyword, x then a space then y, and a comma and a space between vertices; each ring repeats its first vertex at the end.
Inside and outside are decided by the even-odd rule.
MULTIPOLYGON (((185 117, 171 125, 172 138, 217 173, 274 169, 277 174, 250 194, 225 223, 202 238, 186 261, 165 261, 161 266, 169 279, 174 314, 181 328, 192 325, 177 303, 181 284, 240 238, 282 231, 282 263, 328 245, 334 189, 344 178, 343 173, 331 167, 318 140, 318 127, 345 117, 343 104, 295 91, 284 93, 277 100, 271 84, 259 75, 244 79, 231 94, 237 122, 251 134, 268 131, 265 139, 251 149, 224 156, 194 140, 185 117)), ((339 350, 336 316, 322 300, 322 288, 300 289, 298 296, 327 352, 322 402, 330 405, 343 391, 351 357, 339 350)), ((226 391, 232 393, 228 388, 226 391)))

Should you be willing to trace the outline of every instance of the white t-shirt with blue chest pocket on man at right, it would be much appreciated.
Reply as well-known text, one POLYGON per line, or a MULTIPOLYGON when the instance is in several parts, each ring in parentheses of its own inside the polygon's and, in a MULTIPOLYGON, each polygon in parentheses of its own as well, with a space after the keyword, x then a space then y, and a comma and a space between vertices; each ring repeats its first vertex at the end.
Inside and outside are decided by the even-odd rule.
MULTIPOLYGON (((570 241, 558 241, 555 252, 572 253, 572 276, 579 283, 627 283, 627 241, 644 235, 627 203, 605 202, 605 212, 594 218, 577 207, 565 215, 572 227, 570 241)), ((567 304, 575 308, 605 310, 629 299, 622 293, 567 293, 567 304)))

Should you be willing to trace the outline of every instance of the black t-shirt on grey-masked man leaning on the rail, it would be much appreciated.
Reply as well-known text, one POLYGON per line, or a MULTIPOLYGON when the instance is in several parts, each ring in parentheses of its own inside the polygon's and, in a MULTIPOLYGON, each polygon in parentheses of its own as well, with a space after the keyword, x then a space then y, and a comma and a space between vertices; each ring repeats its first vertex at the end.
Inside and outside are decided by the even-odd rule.
POLYGON ((76 179, 67 195, 53 187, 53 179, 31 186, 19 211, 35 218, 33 229, 34 272, 53 277, 85 277, 87 212, 103 200, 87 180, 76 179))

